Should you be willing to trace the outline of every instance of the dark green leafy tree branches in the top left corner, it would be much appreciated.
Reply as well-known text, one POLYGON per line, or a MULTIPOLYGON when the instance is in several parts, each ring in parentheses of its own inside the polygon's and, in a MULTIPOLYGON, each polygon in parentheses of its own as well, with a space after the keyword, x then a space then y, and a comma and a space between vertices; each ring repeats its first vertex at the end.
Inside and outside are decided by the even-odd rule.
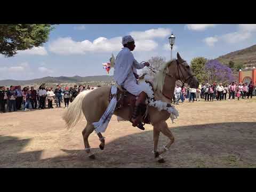
POLYGON ((0 53, 12 57, 17 51, 42 46, 52 29, 50 24, 0 24, 0 53))

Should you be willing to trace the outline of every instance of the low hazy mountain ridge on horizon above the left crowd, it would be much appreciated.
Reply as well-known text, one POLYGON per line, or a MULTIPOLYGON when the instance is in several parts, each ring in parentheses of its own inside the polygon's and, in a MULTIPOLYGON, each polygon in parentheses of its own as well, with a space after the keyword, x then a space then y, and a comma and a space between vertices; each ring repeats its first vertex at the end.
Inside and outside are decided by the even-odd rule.
POLYGON ((78 82, 113 82, 113 76, 103 75, 103 76, 74 76, 74 77, 43 77, 38 79, 31 79, 26 81, 6 79, 0 81, 0 86, 10 86, 10 85, 28 85, 28 84, 42 84, 42 83, 78 83, 78 82))

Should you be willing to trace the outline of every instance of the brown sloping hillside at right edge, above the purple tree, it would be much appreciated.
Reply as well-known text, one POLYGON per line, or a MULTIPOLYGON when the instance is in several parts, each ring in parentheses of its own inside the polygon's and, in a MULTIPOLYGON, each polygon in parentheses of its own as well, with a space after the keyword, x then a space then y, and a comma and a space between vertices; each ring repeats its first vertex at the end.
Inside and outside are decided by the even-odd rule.
POLYGON ((234 51, 217 58, 221 63, 228 65, 229 61, 243 63, 244 67, 256 67, 256 45, 234 51))

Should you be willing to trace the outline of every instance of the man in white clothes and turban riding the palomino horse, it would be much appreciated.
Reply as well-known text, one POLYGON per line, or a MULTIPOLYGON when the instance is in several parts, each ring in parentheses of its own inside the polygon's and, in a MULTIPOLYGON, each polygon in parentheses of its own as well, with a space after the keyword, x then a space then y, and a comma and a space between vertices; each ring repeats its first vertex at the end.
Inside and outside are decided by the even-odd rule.
POLYGON ((140 106, 145 104, 147 94, 143 92, 142 87, 137 83, 137 69, 142 69, 146 66, 148 67, 149 63, 138 63, 134 59, 131 52, 135 49, 134 43, 134 39, 130 35, 123 37, 122 44, 124 47, 116 57, 114 79, 116 83, 126 91, 138 96, 130 121, 132 122, 132 126, 137 126, 139 129, 145 130, 139 117, 139 111, 140 106))

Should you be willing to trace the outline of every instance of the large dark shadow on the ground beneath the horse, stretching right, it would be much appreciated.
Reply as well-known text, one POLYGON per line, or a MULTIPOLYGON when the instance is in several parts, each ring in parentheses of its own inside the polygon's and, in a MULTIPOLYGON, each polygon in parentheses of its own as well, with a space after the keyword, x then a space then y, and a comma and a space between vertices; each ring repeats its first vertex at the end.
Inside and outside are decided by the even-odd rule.
MULTIPOLYGON (((19 161, 19 156, 27 156, 25 159, 29 159, 30 164, 23 163, 22 166, 29 167, 256 167, 255 123, 178 126, 171 131, 175 142, 163 155, 164 164, 157 163, 151 153, 153 131, 127 135, 109 143, 106 140, 105 150, 92 148, 96 156, 94 160, 89 159, 83 149, 61 149, 66 155, 41 160, 37 159, 40 151, 12 154, 12 158, 19 161), (33 162, 31 157, 34 157, 33 162)), ((20 142, 14 141, 13 144, 20 142)), ((167 142, 168 139, 161 134, 158 148, 167 142)))

